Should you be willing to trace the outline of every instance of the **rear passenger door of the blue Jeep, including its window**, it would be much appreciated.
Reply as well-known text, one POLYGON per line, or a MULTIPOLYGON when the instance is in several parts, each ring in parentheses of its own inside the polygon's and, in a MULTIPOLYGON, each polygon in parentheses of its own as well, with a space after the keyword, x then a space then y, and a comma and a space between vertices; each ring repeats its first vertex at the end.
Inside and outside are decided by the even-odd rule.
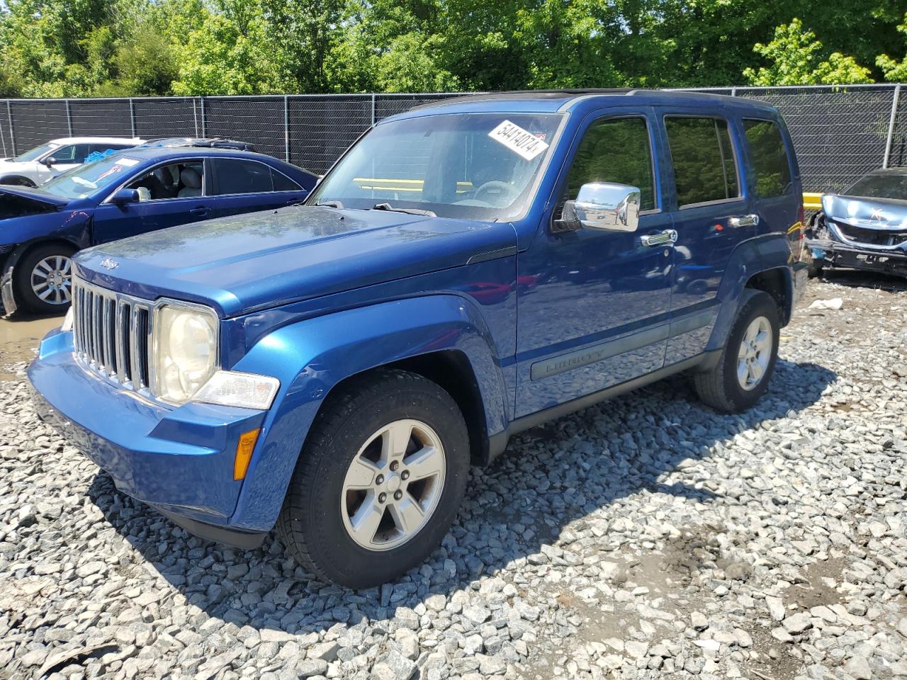
POLYGON ((717 318, 717 289, 733 250, 756 235, 736 121, 701 109, 664 107, 669 192, 678 232, 666 364, 701 353, 717 318))

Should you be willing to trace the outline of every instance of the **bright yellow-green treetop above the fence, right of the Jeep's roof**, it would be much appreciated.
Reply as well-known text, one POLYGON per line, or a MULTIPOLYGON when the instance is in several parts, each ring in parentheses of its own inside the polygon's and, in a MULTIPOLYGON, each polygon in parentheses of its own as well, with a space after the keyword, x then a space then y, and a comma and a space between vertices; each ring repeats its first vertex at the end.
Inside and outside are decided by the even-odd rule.
POLYGON ((752 85, 836 85, 872 83, 869 69, 851 56, 833 52, 825 56, 824 46, 812 31, 804 30, 803 22, 793 19, 790 24, 775 28, 775 38, 768 44, 756 43, 753 51, 760 54, 767 66, 744 69, 746 81, 752 85))

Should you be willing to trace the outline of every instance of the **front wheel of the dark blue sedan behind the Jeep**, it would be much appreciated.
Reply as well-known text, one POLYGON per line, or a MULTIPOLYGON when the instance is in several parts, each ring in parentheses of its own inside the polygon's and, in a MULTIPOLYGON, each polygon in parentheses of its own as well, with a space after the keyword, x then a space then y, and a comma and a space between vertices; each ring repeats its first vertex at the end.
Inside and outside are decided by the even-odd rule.
POLYGON ((22 306, 36 314, 66 311, 71 299, 74 252, 75 248, 51 243, 25 253, 13 269, 15 296, 22 306), (48 266, 53 271, 47 271, 48 266))

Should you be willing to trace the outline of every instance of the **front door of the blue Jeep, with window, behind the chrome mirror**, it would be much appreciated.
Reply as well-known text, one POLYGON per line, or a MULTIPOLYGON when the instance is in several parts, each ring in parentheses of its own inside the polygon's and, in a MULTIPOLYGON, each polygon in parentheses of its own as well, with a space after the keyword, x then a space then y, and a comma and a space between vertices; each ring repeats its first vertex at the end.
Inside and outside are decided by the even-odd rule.
POLYGON ((541 225, 520 255, 516 415, 658 370, 668 338, 673 248, 647 238, 672 227, 662 209, 658 137, 648 108, 592 115, 571 151, 558 206, 583 184, 639 187, 634 233, 541 225))

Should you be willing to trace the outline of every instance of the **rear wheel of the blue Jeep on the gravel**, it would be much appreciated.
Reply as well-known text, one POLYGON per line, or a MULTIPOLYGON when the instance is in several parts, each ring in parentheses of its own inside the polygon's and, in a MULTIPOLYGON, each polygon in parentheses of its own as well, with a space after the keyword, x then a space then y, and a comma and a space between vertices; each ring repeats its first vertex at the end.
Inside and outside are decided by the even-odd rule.
POLYGON ((741 413, 754 406, 766 393, 775 371, 780 330, 774 298, 761 290, 748 289, 717 364, 705 373, 693 375, 693 386, 699 399, 722 413, 741 413), (758 341, 757 333, 754 342, 755 346, 762 347, 761 352, 753 351, 754 345, 744 346, 749 343, 747 333, 752 333, 754 328, 760 333, 768 330, 771 334, 767 340, 764 337, 758 341), (746 367, 746 374, 741 378, 738 369, 744 358, 751 359, 748 366, 752 368, 746 367), (757 380, 756 374, 759 374, 757 380))

